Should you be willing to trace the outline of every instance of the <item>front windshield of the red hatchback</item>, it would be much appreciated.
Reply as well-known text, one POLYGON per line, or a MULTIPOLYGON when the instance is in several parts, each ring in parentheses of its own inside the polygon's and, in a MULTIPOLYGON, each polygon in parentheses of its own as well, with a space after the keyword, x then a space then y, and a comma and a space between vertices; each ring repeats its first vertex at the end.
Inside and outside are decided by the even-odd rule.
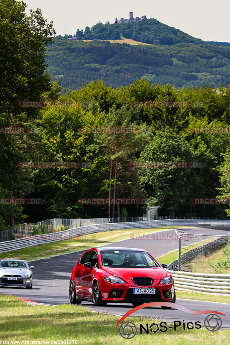
POLYGON ((101 260, 106 267, 160 267, 147 252, 131 250, 105 250, 101 252, 101 260))

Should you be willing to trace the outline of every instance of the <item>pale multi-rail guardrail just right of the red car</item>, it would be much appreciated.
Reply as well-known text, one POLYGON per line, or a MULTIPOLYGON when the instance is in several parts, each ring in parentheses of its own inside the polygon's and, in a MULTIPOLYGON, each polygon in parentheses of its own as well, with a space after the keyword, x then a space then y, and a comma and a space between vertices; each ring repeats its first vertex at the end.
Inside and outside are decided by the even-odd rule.
POLYGON ((230 274, 204 274, 183 271, 172 271, 171 273, 176 290, 196 291, 206 294, 217 294, 220 296, 230 295, 230 274))

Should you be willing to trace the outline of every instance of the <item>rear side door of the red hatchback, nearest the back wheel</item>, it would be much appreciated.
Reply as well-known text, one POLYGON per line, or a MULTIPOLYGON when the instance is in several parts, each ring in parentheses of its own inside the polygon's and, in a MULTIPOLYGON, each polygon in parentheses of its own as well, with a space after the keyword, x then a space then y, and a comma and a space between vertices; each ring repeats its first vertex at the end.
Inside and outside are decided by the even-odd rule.
MULTIPOLYGON (((75 285, 77 289, 78 296, 86 296, 86 286, 85 286, 85 275, 87 274, 86 268, 84 264, 86 262, 90 262, 90 258, 92 256, 92 250, 84 253, 80 259, 79 265, 76 267, 76 271, 74 272, 75 276, 75 285)), ((90 269, 89 269, 90 270, 90 269)))

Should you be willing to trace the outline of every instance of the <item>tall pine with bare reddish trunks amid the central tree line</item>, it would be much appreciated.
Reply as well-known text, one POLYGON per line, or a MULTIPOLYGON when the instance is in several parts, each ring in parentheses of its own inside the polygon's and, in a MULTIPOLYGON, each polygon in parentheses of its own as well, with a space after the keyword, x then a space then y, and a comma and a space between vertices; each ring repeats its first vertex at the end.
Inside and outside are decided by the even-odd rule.
MULTIPOLYGON (((109 110, 103 121, 103 128, 127 128, 127 133, 100 133, 94 135, 95 143, 92 145, 94 152, 101 153, 104 169, 109 171, 109 176, 104 180, 104 191, 108 191, 108 198, 124 198, 141 194, 139 187, 134 183, 134 175, 129 167, 129 162, 135 158, 135 153, 143 147, 143 136, 138 134, 137 122, 133 121, 133 111, 122 106, 109 110), (137 130, 135 130, 137 129, 137 130), (103 158, 102 158, 103 157, 103 158), (112 191, 113 184, 113 191, 112 191)), ((119 214, 119 207, 118 207, 119 214)), ((118 215, 119 216, 119 215, 118 215)), ((110 205, 108 205, 110 217, 110 205)), ((112 206, 114 217, 114 204, 112 206)))

